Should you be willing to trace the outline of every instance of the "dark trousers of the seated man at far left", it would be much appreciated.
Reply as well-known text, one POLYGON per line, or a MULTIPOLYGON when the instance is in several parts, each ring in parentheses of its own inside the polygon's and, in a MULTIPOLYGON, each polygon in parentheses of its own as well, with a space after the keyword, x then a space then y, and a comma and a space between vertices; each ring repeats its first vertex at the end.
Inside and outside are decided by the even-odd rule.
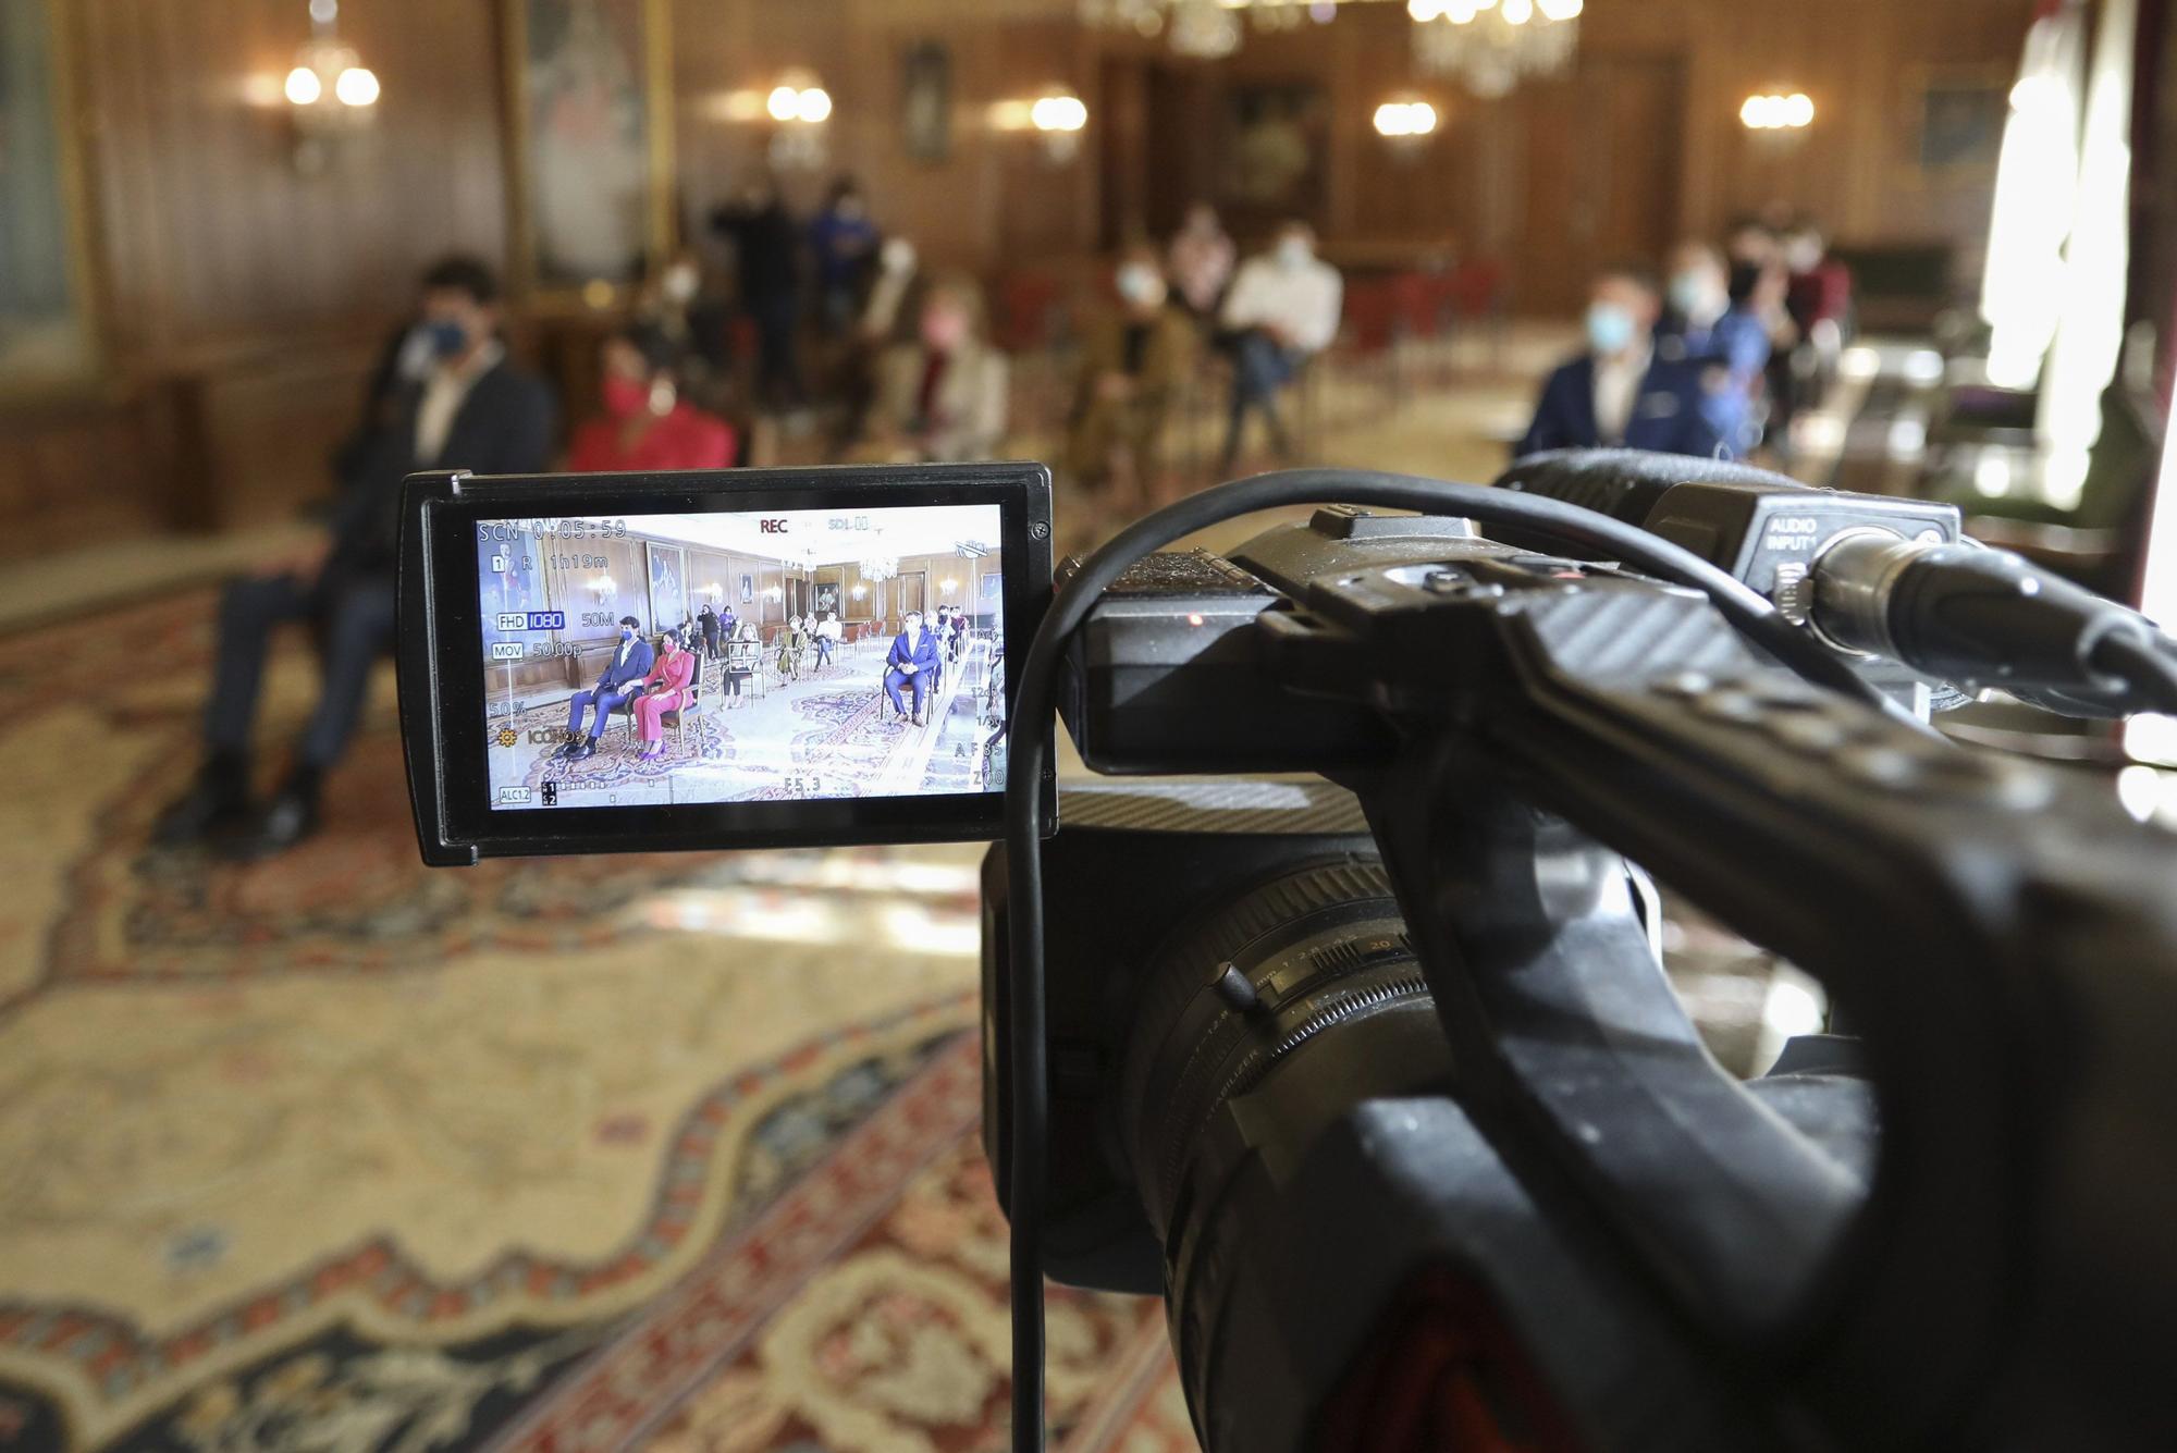
POLYGON ((331 768, 355 735, 370 668, 394 639, 394 583, 381 576, 244 576, 220 598, 218 661, 205 703, 205 746, 246 753, 257 724, 272 631, 292 620, 320 626, 324 685, 298 744, 298 761, 331 768))

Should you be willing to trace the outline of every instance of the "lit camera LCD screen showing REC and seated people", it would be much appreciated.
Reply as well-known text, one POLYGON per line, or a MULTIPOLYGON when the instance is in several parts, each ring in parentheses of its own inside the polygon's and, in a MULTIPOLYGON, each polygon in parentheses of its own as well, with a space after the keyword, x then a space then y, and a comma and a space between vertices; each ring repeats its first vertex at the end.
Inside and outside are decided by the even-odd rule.
POLYGON ((999 505, 477 522, 496 811, 1006 781, 999 505))

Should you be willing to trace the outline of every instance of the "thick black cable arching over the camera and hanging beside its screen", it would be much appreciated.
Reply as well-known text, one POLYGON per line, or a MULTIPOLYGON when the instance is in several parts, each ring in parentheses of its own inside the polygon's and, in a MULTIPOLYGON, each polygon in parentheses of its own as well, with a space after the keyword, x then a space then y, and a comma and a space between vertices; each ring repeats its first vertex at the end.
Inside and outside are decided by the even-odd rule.
MULTIPOLYGON (((1014 1453, 1043 1451, 1043 1183, 1049 1164, 1049 1070, 1045 1064, 1043 985, 1043 798, 1049 763, 1045 731, 1058 705, 1058 670, 1067 639, 1088 618, 1106 589, 1143 555, 1263 509, 1319 502, 1374 505, 1419 513, 1463 516, 1526 524, 1570 544, 1600 550, 1646 574, 1692 585, 1746 637, 1800 676, 1844 692, 1866 705, 1896 711, 1881 692, 1820 642, 1776 613, 1768 600, 1729 572, 1633 524, 1620 524, 1578 505, 1565 505, 1511 489, 1454 485, 1439 479, 1387 474, 1380 470, 1278 470, 1204 489, 1145 516, 1088 557, 1051 600, 1043 626, 1021 663, 1021 687, 1008 720, 1023 722, 1012 735, 1006 763, 1006 916, 1010 929, 1012 1051, 1012 1446, 1014 1453)), ((1918 724, 1918 722, 1916 722, 1918 724)))

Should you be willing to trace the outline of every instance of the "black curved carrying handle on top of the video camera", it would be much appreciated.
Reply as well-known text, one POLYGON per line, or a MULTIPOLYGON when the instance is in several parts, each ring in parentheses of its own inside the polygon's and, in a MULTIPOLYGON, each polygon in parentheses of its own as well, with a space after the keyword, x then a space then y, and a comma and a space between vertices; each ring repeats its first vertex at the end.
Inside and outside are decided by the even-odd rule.
POLYGON ((1685 592, 1398 574, 1260 629, 1291 685, 1406 733, 1354 785, 1459 1098, 1506 1162, 1855 1446, 1927 1446, 2003 1399, 2107 1427, 2101 1446, 2166 1431, 2177 1170, 2147 1146, 2177 1131, 2168 837, 1813 692, 1685 592), (1864 1212, 1700 1048, 1615 853, 1866 1027, 1864 1212))

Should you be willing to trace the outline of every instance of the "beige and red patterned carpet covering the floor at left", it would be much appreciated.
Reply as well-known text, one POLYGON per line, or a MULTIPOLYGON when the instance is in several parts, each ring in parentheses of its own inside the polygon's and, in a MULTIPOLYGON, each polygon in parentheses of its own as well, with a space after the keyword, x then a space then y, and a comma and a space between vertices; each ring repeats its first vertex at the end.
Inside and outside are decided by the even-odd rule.
MULTIPOLYGON (((318 840, 152 853, 207 624, 0 639, 0 1449, 1001 1449, 980 848, 425 872, 385 681, 318 840)), ((1051 1327, 1191 1446, 1158 1307, 1051 1327)))

